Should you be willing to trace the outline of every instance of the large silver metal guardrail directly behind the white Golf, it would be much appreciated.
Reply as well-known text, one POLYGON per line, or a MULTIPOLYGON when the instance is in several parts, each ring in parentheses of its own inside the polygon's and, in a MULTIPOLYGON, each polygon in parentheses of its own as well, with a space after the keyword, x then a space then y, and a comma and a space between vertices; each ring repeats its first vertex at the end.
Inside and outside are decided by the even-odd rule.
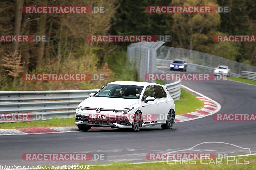
MULTIPOLYGON (((180 81, 166 84, 174 100, 180 97, 180 81)), ((45 119, 74 117, 78 104, 93 90, 2 91, 0 116, 5 113, 44 115, 45 119)), ((11 121, 0 121, 11 122, 11 121)))

